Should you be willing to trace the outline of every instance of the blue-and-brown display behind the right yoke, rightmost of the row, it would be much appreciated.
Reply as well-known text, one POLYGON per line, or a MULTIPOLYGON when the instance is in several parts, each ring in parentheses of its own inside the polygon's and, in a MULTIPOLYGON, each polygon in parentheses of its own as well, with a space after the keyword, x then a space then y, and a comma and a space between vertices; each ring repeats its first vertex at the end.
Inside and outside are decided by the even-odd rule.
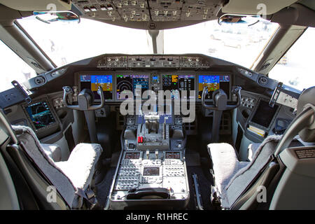
POLYGON ((230 99, 230 76, 225 75, 206 75, 199 76, 199 85, 198 85, 198 98, 202 97, 202 90, 204 87, 208 86, 208 94, 206 99, 212 99, 212 93, 218 89, 223 90, 230 99))

